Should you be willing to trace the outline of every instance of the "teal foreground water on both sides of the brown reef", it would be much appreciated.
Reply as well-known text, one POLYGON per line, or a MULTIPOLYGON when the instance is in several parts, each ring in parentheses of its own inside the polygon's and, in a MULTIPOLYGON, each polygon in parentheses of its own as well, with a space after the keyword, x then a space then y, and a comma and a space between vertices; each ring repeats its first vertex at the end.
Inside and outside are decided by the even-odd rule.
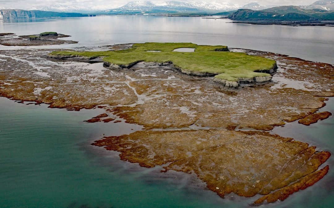
MULTIPOLYGON (((333 112, 330 103, 326 108, 333 112)), ((161 167, 140 167, 121 161, 117 152, 90 145, 103 133, 121 135, 140 128, 83 122, 99 109, 50 109, 6 98, 0 98, 0 106, 1 207, 244 207, 254 201, 221 199, 190 174, 160 173, 161 167)), ((318 149, 333 152, 333 126, 332 116, 311 127, 291 123, 281 133, 300 135, 303 141, 307 135, 318 149)), ((332 207, 333 157, 329 164, 328 175, 312 188, 268 207, 332 207)))

